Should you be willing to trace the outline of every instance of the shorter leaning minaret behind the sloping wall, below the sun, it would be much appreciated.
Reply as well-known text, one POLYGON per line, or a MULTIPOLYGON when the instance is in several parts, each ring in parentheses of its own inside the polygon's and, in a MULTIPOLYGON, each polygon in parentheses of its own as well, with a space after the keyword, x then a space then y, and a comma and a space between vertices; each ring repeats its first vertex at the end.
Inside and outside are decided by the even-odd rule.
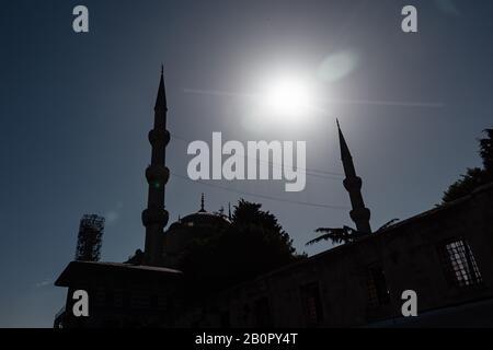
POLYGON ((337 120, 339 142, 341 145, 341 160, 344 166, 344 187, 349 192, 351 206, 353 210, 349 212, 351 219, 356 223, 356 229, 360 233, 371 233, 369 224, 370 211, 365 207, 362 196, 362 178, 356 175, 354 168, 353 156, 351 156, 349 148, 341 131, 337 120))

